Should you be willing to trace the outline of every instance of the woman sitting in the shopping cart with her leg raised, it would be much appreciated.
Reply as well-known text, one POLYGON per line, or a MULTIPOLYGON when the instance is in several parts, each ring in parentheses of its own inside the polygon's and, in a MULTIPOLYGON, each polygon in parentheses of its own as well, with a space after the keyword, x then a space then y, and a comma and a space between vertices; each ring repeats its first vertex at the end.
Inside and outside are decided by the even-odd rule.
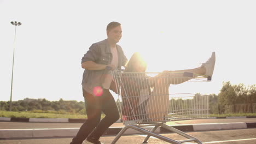
POLYGON ((147 69, 147 63, 139 53, 134 53, 126 64, 122 75, 123 120, 164 121, 167 116, 169 86, 193 79, 197 76, 194 74, 211 78, 215 59, 215 53, 212 52, 212 56, 201 67, 175 71, 165 70, 154 77, 150 77, 144 73, 147 69))

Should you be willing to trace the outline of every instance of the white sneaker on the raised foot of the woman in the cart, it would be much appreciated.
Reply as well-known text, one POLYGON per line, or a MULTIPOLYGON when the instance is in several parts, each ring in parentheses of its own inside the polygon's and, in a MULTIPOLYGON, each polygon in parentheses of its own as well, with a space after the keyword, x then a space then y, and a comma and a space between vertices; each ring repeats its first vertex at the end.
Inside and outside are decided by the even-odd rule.
POLYGON ((215 52, 212 52, 212 56, 208 59, 206 63, 202 64, 202 67, 205 67, 206 72, 205 75, 208 76, 208 80, 212 80, 212 74, 214 70, 214 65, 215 65, 215 52))

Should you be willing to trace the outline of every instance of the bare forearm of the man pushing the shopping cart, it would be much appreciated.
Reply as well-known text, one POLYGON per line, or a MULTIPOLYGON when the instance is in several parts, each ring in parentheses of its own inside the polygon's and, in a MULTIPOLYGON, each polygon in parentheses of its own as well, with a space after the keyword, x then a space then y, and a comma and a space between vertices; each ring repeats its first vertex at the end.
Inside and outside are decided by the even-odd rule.
POLYGON ((109 70, 115 69, 115 66, 111 65, 111 64, 109 64, 109 65, 98 64, 93 61, 86 61, 86 62, 82 63, 82 68, 88 69, 88 70, 103 70, 103 69, 106 69, 107 66, 109 66, 111 68, 109 70))

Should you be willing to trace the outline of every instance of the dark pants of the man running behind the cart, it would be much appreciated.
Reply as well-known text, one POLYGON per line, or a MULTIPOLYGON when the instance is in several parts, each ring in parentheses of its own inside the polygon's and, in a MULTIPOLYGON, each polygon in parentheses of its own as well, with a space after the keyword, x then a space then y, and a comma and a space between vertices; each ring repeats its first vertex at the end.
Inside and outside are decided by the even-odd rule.
POLYGON ((103 89, 101 96, 94 96, 83 89, 83 95, 88 119, 80 127, 71 144, 82 144, 89 135, 100 139, 104 131, 119 119, 117 104, 108 89, 103 89), (101 112, 106 115, 102 120, 101 112))

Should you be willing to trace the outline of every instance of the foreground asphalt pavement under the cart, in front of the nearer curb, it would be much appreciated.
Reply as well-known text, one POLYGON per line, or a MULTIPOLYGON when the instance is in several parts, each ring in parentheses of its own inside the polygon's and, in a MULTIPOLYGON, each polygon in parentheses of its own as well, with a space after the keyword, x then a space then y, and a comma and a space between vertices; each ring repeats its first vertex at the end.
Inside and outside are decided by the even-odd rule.
MULTIPOLYGON (((214 130, 188 132, 187 134, 197 137, 203 144, 255 144, 256 129, 235 129, 235 130, 214 130)), ((177 134, 162 134, 174 140, 183 140, 182 136, 177 134)), ((138 144, 142 143, 146 135, 124 135, 121 136, 116 144, 138 144)), ((111 143, 115 135, 102 136, 101 141, 105 144, 111 143)), ((72 137, 66 138, 46 138, 46 139, 16 139, 0 140, 0 144, 69 144, 72 137)), ((150 137, 148 143, 165 144, 167 142, 150 137)), ((189 143, 186 143, 189 144, 189 143)))

